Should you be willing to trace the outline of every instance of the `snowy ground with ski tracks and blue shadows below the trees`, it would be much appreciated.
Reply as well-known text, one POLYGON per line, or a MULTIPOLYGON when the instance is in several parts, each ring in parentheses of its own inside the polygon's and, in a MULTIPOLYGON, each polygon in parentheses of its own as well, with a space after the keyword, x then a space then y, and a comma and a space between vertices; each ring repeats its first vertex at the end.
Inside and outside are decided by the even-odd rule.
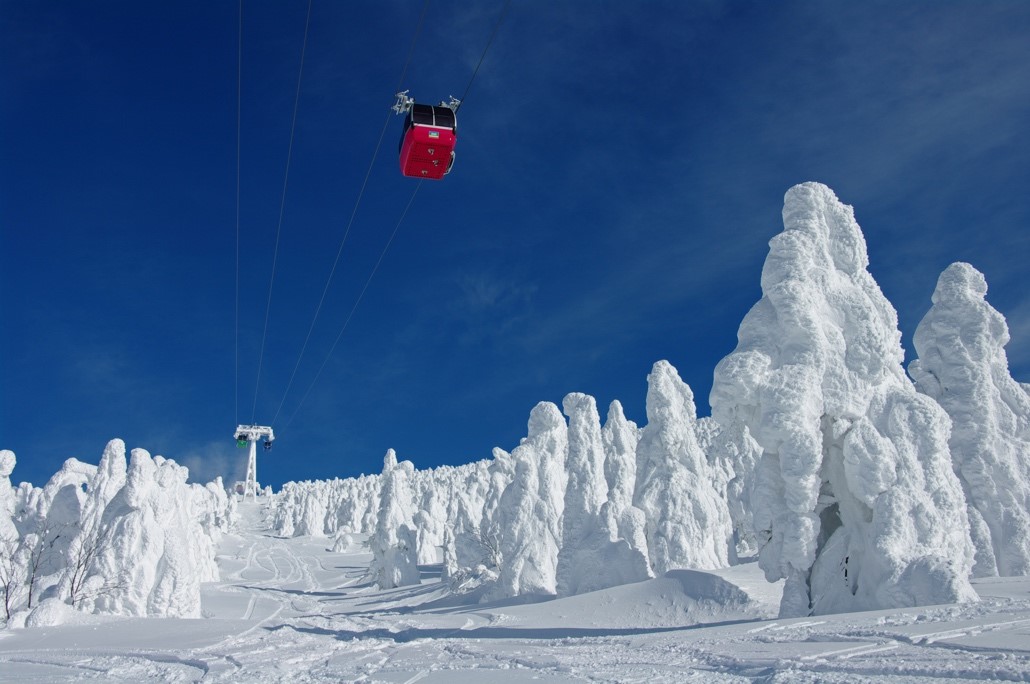
POLYGON ((455 605, 439 571, 378 591, 370 554, 270 535, 256 505, 227 537, 206 619, 83 616, 0 631, 0 680, 341 682, 1030 681, 1030 579, 983 601, 776 620, 751 565, 680 571, 530 605, 455 605))

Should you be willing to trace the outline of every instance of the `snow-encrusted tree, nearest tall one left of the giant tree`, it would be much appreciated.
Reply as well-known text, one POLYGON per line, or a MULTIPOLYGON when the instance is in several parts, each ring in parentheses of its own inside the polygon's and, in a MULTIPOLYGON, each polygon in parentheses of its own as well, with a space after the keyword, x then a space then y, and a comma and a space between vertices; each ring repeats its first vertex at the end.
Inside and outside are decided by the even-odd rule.
POLYGON ((637 446, 633 503, 646 516, 649 557, 658 576, 729 565, 729 510, 697 443, 696 415, 690 387, 672 364, 656 363, 648 375, 648 423, 637 446))

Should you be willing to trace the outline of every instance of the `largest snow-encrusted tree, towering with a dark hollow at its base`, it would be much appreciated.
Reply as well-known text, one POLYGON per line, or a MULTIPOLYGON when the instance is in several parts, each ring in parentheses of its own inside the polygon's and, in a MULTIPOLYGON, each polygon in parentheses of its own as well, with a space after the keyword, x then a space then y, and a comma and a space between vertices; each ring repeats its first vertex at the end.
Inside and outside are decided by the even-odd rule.
POLYGON ((974 600, 951 421, 904 375, 851 207, 804 183, 783 221, 712 389, 715 419, 763 449, 751 503, 781 613, 974 600))

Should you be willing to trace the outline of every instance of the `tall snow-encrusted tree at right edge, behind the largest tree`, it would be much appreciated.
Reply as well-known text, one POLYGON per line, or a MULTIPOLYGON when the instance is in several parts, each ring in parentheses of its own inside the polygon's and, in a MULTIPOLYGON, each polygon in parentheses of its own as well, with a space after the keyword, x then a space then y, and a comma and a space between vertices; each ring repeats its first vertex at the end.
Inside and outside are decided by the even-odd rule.
POLYGON ((952 418, 955 472, 966 494, 976 576, 1030 575, 1030 396, 1008 372, 1005 318, 969 264, 940 274, 916 330, 908 371, 952 418))

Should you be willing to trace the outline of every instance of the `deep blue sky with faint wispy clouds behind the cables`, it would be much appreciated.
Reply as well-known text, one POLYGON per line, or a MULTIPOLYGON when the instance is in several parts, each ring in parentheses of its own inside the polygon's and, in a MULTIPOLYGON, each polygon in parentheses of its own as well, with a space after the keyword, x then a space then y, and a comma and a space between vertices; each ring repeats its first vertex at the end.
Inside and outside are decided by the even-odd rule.
MULTIPOLYGON (((460 96, 502 5, 433 0, 404 87, 460 96)), ((1030 3, 513 0, 453 173, 419 189, 341 336, 417 182, 396 117, 325 289, 421 8, 313 0, 260 362, 307 3, 244 3, 237 379, 238 3, 0 0, 14 481, 113 437, 233 477, 236 421, 276 413, 274 486, 378 472, 388 447, 460 464, 569 391, 643 423, 660 358, 707 415, 806 180, 855 206, 909 358, 967 261, 1030 380, 1030 3)))

